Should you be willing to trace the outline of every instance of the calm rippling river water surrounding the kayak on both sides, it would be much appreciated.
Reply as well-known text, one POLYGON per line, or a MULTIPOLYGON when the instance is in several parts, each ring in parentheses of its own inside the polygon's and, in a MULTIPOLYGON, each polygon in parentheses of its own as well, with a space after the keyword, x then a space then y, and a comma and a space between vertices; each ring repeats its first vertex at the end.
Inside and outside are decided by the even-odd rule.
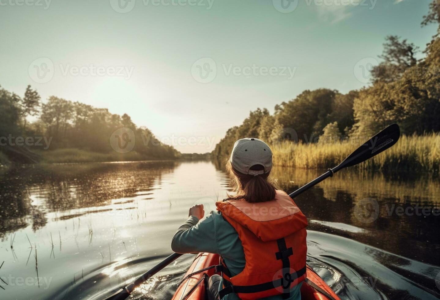
MULTIPOLYGON (((320 173, 275 168, 273 177, 291 192, 320 173)), ((102 299, 171 253, 190 206, 213 210, 227 190, 211 162, 3 172, 0 299, 102 299)), ((342 299, 438 299, 439 195, 429 176, 337 173, 295 199, 309 220, 309 265, 342 299)), ((133 299, 170 299, 193 257, 182 256, 133 299)))

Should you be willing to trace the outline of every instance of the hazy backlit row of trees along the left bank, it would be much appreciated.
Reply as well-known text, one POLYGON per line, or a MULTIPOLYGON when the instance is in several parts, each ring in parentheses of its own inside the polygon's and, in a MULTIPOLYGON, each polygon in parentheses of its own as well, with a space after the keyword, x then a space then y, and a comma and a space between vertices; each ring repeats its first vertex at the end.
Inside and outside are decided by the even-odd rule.
MULTIPOLYGON (((10 161, 39 161, 40 157, 29 149, 50 151, 74 148, 82 150, 81 154, 86 153, 84 151, 114 154, 110 136, 118 128, 129 128, 134 132, 136 143, 130 151, 130 157, 134 157, 133 153, 138 159, 180 157, 180 152, 161 143, 148 128, 137 127, 127 114, 121 116, 107 109, 55 96, 43 103, 30 85, 23 97, 0 88, 0 118, 0 137, 3 137, 0 152, 10 161), (37 121, 29 124, 29 116, 37 117, 37 121), (39 137, 44 139, 40 140, 39 137), (40 143, 37 143, 38 140, 40 143)), ((44 153, 44 156, 48 155, 44 153)), ((123 159, 123 155, 120 157, 123 159)))

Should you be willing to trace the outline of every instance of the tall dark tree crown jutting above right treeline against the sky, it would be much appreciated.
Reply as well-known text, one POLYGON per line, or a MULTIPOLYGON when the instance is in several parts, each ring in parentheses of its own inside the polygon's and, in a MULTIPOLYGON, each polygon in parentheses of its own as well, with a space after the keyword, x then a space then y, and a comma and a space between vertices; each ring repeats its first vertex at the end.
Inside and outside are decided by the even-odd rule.
POLYGON ((405 70, 417 64, 415 58, 418 47, 407 40, 400 41, 398 36, 388 36, 384 50, 379 58, 383 59, 378 66, 371 71, 373 82, 392 82, 402 77, 405 70))

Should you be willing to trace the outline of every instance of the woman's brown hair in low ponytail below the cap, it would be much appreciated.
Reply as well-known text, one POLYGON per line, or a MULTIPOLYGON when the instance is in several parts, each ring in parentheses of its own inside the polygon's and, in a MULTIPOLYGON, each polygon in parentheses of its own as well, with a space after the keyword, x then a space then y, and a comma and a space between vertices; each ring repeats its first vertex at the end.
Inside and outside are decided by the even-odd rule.
MULTIPOLYGON (((263 170, 262 165, 254 165, 251 170, 263 170)), ((275 198, 275 187, 268 182, 270 172, 257 176, 242 174, 235 170, 231 161, 227 161, 226 170, 231 178, 231 186, 236 193, 234 196, 227 195, 225 200, 245 199, 248 202, 265 202, 275 198)))

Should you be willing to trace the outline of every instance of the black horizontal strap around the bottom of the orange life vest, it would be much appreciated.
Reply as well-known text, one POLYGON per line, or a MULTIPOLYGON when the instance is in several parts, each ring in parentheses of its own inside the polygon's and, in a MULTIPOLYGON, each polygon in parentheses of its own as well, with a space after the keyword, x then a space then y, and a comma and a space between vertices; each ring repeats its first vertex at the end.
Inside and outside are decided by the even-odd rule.
MULTIPOLYGON (((302 275, 304 275, 306 272, 306 267, 304 266, 301 270, 293 272, 291 274, 288 274, 288 278, 294 278, 294 279, 287 279, 288 281, 291 280, 291 282, 295 281, 297 278, 300 278, 302 275)), ((226 280, 223 277, 223 285, 225 286, 224 289, 221 289, 219 291, 220 299, 222 299, 224 296, 226 296, 229 293, 259 293, 264 292, 269 289, 275 289, 280 286, 283 286, 283 278, 270 281, 270 282, 264 282, 257 285, 233 285, 231 282, 226 280)), ((290 282, 289 282, 290 285, 290 282)))

